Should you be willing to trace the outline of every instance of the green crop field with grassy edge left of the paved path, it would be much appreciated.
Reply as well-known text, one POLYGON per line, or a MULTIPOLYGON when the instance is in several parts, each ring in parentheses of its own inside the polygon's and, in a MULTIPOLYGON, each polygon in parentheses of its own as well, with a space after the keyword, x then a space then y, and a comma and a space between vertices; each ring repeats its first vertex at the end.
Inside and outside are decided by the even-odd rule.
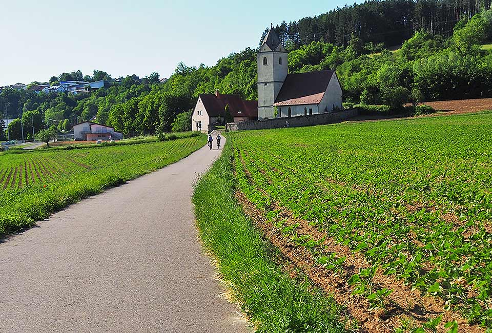
POLYGON ((188 156, 203 136, 74 150, 0 154, 0 235, 108 186, 124 183, 188 156))

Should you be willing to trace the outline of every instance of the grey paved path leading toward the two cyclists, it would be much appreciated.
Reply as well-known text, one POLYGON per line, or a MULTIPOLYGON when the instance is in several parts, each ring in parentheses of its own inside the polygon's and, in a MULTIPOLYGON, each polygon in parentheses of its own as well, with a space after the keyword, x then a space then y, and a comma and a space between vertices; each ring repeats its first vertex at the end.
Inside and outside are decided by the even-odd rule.
POLYGON ((192 182, 219 154, 204 147, 1 242, 0 332, 247 331, 194 225, 192 182))

